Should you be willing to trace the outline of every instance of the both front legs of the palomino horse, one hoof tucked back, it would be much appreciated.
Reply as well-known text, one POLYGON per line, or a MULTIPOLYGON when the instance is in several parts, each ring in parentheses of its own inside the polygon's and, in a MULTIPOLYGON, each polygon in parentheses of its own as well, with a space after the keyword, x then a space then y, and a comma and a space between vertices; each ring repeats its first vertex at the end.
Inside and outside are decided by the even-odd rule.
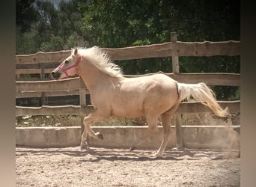
POLYGON ((102 115, 99 115, 95 112, 92 114, 89 114, 88 116, 86 116, 84 118, 83 124, 85 126, 85 129, 84 129, 84 132, 82 133, 82 137, 81 137, 81 144, 80 144, 81 150, 83 150, 83 149, 89 150, 88 142, 87 142, 88 135, 91 135, 94 138, 103 140, 103 135, 100 134, 100 132, 95 133, 91 129, 91 124, 93 124, 99 120, 103 120, 104 118, 106 118, 106 117, 103 117, 102 115))

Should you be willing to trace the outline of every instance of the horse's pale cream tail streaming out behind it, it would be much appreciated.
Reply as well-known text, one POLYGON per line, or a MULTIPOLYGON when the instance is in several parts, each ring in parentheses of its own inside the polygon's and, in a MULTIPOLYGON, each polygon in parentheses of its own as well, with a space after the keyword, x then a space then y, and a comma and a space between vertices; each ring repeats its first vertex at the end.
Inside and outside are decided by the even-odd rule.
POLYGON ((180 94, 180 100, 191 100, 191 96, 195 101, 201 102, 212 109, 213 113, 219 117, 228 116, 228 108, 222 109, 218 102, 216 102, 216 96, 213 91, 207 87, 203 82, 198 84, 185 84, 177 83, 178 92, 180 94))

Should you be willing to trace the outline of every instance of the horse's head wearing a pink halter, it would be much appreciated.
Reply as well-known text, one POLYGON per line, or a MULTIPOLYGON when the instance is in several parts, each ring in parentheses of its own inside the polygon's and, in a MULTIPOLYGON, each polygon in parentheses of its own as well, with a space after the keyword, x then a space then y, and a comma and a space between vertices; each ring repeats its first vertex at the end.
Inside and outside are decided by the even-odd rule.
POLYGON ((78 65, 80 61, 81 56, 78 55, 78 49, 74 49, 72 54, 52 71, 52 78, 58 80, 79 76, 78 65))

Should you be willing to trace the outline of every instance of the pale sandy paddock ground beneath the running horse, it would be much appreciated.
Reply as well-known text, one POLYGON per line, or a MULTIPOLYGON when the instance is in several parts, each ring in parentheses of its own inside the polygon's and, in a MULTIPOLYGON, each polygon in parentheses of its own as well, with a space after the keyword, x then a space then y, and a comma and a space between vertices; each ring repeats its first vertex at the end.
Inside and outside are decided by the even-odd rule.
POLYGON ((16 147, 16 186, 240 186, 237 150, 16 147))

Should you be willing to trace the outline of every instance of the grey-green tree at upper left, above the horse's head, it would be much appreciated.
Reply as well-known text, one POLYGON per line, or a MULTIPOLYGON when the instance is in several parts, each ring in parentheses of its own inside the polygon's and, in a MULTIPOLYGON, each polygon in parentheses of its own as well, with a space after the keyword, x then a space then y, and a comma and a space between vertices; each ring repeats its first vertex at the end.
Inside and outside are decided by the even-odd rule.
POLYGON ((16 54, 58 51, 76 46, 77 37, 82 35, 82 14, 77 4, 75 0, 61 1, 56 8, 50 1, 35 1, 33 8, 37 17, 27 30, 16 34, 16 54))

